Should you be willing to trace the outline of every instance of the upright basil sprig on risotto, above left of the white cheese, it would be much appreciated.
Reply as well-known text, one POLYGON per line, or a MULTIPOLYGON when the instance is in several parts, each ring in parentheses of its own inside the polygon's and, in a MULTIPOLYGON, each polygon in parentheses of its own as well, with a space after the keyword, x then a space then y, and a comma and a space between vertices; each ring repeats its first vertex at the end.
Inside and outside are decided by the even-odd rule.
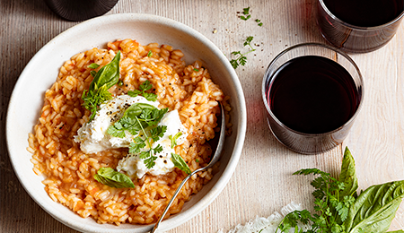
MULTIPOLYGON (((98 72, 91 72, 94 78, 90 83, 89 89, 83 91, 82 95, 84 101, 83 108, 92 112, 89 121, 92 121, 102 102, 112 99, 112 95, 108 90, 119 82, 119 60, 120 51, 118 51, 117 55, 109 64, 102 66, 98 72)), ((89 65, 92 69, 98 68, 98 66, 97 64, 89 65)))

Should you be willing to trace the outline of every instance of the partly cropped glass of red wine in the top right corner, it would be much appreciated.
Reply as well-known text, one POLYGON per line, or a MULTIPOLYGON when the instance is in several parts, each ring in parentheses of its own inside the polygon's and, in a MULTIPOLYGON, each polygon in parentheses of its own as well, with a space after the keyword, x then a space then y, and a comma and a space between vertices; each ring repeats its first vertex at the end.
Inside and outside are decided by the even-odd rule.
POLYGON ((400 26, 403 12, 404 0, 318 0, 317 23, 322 36, 335 47, 364 53, 391 40, 400 26))

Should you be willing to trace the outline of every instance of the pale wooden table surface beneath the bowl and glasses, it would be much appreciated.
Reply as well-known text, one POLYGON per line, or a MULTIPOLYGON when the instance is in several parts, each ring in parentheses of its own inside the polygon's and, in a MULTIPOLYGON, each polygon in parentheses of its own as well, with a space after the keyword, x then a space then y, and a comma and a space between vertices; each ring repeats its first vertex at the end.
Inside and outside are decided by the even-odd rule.
MULTIPOLYGON (((347 145, 356 160, 359 188, 404 179, 404 24, 381 49, 352 55, 364 75, 364 108, 343 145, 303 156, 285 149, 270 134, 260 87, 269 62, 286 47, 322 42, 314 20, 314 0, 120 0, 110 13, 151 13, 189 25, 212 40, 226 56, 258 49, 236 70, 247 102, 248 125, 241 160, 213 203, 169 232, 227 231, 256 216, 268 217, 294 201, 312 209, 312 177, 292 176, 300 168, 338 174, 347 145), (240 12, 250 6, 251 19, 240 12), (263 25, 259 27, 256 19, 263 25)), ((78 22, 66 22, 41 0, 0 1, 0 232, 75 232, 43 211, 20 185, 5 144, 8 101, 22 69, 42 46, 78 22)), ((29 158, 27 158, 29 160, 29 158)), ((404 204, 392 229, 404 229, 404 204)))

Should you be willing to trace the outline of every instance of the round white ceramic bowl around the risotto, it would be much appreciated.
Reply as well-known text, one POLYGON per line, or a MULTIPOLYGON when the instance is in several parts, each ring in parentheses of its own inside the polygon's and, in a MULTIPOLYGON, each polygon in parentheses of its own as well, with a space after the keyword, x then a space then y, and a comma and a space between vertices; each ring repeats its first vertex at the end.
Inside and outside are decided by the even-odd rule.
POLYGON ((92 218, 83 219, 62 204, 53 202, 41 183, 43 177, 32 171, 31 153, 26 151, 28 134, 37 123, 44 92, 56 81, 58 69, 66 60, 92 47, 105 47, 108 41, 127 38, 144 45, 158 42, 179 48, 185 54, 187 64, 197 59, 202 61, 214 82, 231 96, 233 107, 233 134, 225 140, 220 172, 184 205, 183 211, 163 220, 159 229, 175 228, 212 203, 232 177, 242 153, 247 125, 242 86, 223 52, 210 40, 180 22, 148 14, 111 14, 82 22, 50 40, 22 71, 10 99, 6 136, 14 171, 27 193, 55 219, 83 232, 146 232, 153 226, 98 224, 92 218))

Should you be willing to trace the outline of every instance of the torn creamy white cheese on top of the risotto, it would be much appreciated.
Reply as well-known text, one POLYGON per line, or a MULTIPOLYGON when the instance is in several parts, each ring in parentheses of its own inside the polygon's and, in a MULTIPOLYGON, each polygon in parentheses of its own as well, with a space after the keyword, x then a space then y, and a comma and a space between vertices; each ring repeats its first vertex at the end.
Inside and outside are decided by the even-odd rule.
MULTIPOLYGON (((80 148, 84 153, 96 153, 112 148, 128 148, 130 142, 138 136, 126 132, 124 138, 114 137, 107 134, 110 125, 115 124, 124 115, 125 110, 135 103, 146 103, 158 108, 158 101, 148 101, 142 96, 130 97, 128 95, 120 95, 114 99, 110 99, 101 104, 96 116, 92 122, 85 123, 75 136, 75 142, 80 142, 80 148)), ((122 160, 119 160, 117 170, 126 173, 128 177, 141 178, 145 173, 154 176, 166 174, 174 169, 174 164, 171 161, 171 153, 175 153, 174 148, 171 148, 171 137, 174 137, 179 132, 180 137, 177 138, 177 145, 185 142, 188 136, 187 128, 182 125, 180 116, 177 110, 167 112, 158 125, 167 126, 165 134, 157 142, 152 144, 154 148, 160 144, 162 151, 154 156, 157 159, 154 161, 153 168, 146 168, 145 161, 139 158, 138 154, 128 154, 122 160)), ((144 148, 141 151, 149 150, 144 148)))

